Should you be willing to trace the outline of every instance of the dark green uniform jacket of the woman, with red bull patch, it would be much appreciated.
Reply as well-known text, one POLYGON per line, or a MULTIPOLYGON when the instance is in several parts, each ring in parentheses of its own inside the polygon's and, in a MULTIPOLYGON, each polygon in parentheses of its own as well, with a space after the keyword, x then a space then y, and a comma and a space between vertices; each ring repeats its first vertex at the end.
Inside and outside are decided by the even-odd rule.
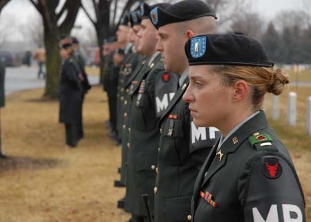
POLYGON ((305 221, 290 154, 263 111, 229 136, 217 154, 216 146, 211 151, 196 179, 191 214, 195 222, 305 221))

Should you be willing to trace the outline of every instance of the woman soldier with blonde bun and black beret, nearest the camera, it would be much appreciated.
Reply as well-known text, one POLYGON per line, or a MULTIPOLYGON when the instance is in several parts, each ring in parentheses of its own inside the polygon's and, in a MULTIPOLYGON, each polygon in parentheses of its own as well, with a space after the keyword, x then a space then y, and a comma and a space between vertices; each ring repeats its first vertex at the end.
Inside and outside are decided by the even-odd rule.
POLYGON ((288 77, 243 35, 193 37, 185 50, 190 84, 183 99, 196 126, 223 133, 200 169, 188 219, 305 221, 292 159, 262 110, 265 93, 281 94, 288 77))

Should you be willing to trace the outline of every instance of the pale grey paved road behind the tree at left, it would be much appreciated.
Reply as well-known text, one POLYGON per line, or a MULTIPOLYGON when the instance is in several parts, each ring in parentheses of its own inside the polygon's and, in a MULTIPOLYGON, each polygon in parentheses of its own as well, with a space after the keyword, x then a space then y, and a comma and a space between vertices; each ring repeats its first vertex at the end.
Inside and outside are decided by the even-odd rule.
MULTIPOLYGON (((20 66, 20 67, 7 67, 6 68, 6 82, 5 89, 6 95, 20 91, 23 89, 44 88, 46 85, 45 80, 37 79, 37 66, 20 66)), ((88 80, 91 84, 98 84, 98 76, 89 76, 88 80)))

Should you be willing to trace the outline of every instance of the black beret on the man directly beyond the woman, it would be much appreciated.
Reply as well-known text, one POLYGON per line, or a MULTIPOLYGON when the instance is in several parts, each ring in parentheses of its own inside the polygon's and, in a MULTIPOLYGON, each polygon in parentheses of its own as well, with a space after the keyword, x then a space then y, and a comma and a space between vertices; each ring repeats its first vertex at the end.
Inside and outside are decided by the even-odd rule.
POLYGON ((211 16, 217 19, 213 10, 206 3, 199 0, 184 0, 175 3, 165 9, 153 8, 150 12, 153 26, 161 26, 180 21, 189 21, 199 17, 211 16))

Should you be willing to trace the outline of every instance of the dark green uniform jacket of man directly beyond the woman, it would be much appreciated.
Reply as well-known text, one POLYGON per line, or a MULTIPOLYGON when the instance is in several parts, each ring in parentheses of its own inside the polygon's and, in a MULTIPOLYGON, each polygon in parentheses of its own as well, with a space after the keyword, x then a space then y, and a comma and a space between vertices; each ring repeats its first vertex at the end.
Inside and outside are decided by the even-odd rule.
MULTIPOLYGON (((205 147, 194 151, 190 145, 189 104, 182 100, 188 84, 186 78, 159 121, 161 136, 154 187, 155 222, 187 221, 194 181, 211 149, 205 147)), ((216 138, 213 141, 214 145, 216 138)))

